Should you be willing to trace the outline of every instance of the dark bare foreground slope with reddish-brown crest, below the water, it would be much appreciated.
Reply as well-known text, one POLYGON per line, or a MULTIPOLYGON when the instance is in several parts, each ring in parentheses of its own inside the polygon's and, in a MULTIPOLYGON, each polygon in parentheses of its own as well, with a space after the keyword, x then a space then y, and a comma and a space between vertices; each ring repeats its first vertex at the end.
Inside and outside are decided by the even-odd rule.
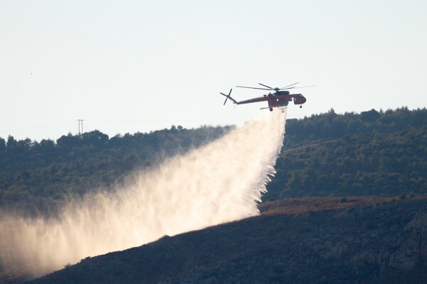
POLYGON ((426 204, 268 202, 260 217, 85 258, 30 283, 426 283, 426 204))

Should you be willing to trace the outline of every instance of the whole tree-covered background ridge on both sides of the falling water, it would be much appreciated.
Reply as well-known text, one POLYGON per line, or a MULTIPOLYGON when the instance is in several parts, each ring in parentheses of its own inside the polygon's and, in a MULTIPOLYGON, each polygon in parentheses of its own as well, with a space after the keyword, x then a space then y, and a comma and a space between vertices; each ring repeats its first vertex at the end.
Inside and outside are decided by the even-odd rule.
MULTIPOLYGON (((108 137, 100 131, 56 141, 0 138, 0 209, 56 212, 68 197, 109 190, 133 170, 186 153, 231 126, 108 137)), ((250 153, 248 153, 250 155, 250 153)), ((427 193, 427 110, 401 108, 288 119, 277 174, 263 200, 305 196, 427 193)))

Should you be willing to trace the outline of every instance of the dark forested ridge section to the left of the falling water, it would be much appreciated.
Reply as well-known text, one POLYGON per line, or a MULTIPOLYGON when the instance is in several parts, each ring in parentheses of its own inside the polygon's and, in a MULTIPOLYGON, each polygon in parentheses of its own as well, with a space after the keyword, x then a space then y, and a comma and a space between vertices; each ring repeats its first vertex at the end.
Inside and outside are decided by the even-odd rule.
POLYGON ((186 153, 230 128, 172 126, 111 138, 96 130, 40 142, 0 138, 0 209, 54 213, 68 197, 98 188, 109 190, 132 170, 186 153))

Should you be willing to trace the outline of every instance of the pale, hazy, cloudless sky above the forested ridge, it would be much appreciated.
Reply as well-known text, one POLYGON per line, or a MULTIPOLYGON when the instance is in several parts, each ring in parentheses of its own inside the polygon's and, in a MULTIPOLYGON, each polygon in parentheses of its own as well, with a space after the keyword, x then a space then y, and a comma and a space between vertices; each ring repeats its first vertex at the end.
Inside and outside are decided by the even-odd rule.
POLYGON ((240 124, 294 82, 288 118, 427 107, 427 1, 0 0, 0 137, 240 124))

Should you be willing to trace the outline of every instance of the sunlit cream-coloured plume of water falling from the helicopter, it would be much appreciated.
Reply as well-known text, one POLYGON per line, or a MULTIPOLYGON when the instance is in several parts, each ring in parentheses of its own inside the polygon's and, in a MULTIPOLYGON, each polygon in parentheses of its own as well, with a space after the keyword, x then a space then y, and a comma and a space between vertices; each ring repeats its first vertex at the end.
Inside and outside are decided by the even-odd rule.
POLYGON ((115 192, 70 202, 56 219, 0 219, 0 261, 42 275, 66 263, 140 246, 164 235, 259 214, 283 143, 286 109, 135 175, 115 192))

